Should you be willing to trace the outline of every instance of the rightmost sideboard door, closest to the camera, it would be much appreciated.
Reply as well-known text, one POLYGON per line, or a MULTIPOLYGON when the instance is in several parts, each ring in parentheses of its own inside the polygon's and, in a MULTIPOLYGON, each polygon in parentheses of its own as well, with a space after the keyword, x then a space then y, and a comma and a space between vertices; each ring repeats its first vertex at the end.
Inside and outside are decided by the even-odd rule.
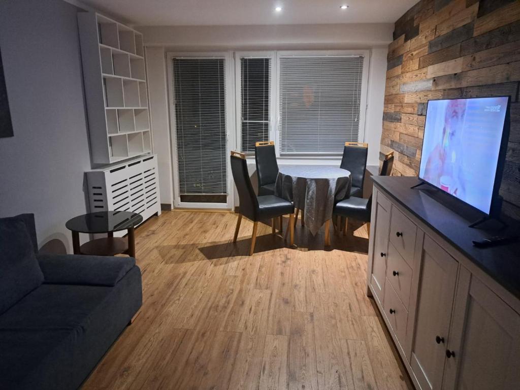
POLYGON ((443 388, 520 387, 520 315, 465 268, 457 287, 448 350, 443 388))

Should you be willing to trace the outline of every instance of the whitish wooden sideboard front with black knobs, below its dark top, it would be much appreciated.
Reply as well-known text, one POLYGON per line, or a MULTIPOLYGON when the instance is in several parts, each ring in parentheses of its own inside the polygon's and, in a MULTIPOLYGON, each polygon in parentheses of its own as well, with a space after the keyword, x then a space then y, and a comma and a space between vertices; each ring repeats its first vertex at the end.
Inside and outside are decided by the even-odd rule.
POLYGON ((415 387, 520 388, 520 305, 390 194, 373 199, 368 290, 415 387))

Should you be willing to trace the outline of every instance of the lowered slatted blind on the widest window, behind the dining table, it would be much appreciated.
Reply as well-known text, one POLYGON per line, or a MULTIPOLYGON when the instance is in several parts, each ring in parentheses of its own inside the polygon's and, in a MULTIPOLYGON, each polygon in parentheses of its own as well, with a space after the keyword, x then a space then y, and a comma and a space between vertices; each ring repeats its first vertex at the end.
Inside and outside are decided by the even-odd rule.
POLYGON ((280 58, 281 153, 341 153, 358 141, 363 57, 280 58))

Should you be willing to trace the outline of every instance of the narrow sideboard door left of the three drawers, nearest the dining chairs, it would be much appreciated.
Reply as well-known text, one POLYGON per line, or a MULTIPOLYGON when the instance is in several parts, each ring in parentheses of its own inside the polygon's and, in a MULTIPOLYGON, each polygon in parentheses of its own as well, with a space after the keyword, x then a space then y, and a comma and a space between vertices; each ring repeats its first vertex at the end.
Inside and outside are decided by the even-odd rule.
POLYGON ((386 252, 388 249, 388 229, 390 227, 391 203, 381 192, 375 191, 375 203, 373 215, 374 226, 374 250, 372 252, 372 269, 369 283, 378 301, 383 304, 385 275, 386 275, 386 252))

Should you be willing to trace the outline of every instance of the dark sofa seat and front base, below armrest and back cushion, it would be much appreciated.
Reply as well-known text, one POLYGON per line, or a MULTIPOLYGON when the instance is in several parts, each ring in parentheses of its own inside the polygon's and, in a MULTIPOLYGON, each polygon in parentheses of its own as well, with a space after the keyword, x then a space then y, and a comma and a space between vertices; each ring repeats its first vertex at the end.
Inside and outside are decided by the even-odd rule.
POLYGON ((0 389, 78 388, 141 303, 137 266, 114 287, 41 285, 0 315, 0 389))

